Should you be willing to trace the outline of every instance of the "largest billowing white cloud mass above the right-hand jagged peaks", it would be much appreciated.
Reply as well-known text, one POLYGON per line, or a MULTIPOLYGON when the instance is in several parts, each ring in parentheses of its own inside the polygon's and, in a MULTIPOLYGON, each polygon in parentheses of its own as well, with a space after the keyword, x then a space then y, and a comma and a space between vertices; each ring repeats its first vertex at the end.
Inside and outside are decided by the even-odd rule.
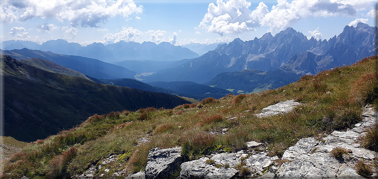
POLYGON ((283 30, 301 19, 308 17, 354 16, 359 10, 374 0, 277 0, 271 11, 265 3, 251 11, 251 2, 247 0, 217 0, 217 5, 209 4, 198 28, 210 33, 240 34, 255 30, 260 26, 270 28, 268 31, 283 30))

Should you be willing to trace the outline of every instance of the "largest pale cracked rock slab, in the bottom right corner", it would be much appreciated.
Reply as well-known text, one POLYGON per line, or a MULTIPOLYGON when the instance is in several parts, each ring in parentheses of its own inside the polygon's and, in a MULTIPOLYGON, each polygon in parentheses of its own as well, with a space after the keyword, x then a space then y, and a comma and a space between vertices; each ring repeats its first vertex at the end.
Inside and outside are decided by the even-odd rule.
POLYGON ((299 140, 294 146, 288 148, 282 159, 285 162, 275 173, 269 172, 259 178, 353 178, 363 179, 364 177, 356 173, 354 166, 358 161, 371 162, 378 153, 362 148, 358 138, 364 135, 372 123, 378 120, 378 114, 367 106, 363 112, 363 121, 352 130, 340 132, 334 131, 322 140, 313 137, 299 140), (335 159, 330 155, 330 151, 336 146, 352 151, 348 155, 343 155, 342 159, 335 159))

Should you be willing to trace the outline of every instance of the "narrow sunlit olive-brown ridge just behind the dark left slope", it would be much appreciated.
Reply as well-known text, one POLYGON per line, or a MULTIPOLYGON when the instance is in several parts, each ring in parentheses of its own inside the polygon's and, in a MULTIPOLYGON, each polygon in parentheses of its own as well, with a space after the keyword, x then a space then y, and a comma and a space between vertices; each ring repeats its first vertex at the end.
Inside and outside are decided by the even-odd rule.
POLYGON ((68 76, 76 76, 76 77, 81 77, 81 78, 90 80, 83 73, 58 65, 52 61, 47 61, 40 58, 31 58, 31 59, 23 59, 20 62, 31 65, 33 67, 40 68, 42 70, 45 70, 51 73, 60 73, 60 74, 68 75, 68 76))

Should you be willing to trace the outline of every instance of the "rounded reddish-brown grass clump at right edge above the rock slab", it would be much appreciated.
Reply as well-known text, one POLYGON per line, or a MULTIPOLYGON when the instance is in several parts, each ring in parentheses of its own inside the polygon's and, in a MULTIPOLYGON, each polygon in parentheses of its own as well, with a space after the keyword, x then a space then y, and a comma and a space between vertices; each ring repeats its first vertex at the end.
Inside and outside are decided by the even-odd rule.
POLYGON ((378 85, 374 73, 365 73, 352 85, 352 96, 361 104, 369 104, 378 99, 378 85))

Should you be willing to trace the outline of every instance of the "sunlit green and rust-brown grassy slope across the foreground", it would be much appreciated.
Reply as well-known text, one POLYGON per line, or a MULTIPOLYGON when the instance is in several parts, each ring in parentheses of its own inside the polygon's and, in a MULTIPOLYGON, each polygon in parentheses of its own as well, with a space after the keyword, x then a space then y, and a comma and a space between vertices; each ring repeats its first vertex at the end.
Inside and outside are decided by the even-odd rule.
POLYGON ((110 153, 131 152, 130 158, 106 165, 111 169, 105 173, 106 178, 117 168, 130 172, 143 170, 148 151, 153 147, 183 146, 182 156, 191 160, 215 150, 245 149, 245 142, 254 140, 268 146, 271 155, 282 156, 285 149, 302 137, 349 128, 361 120, 361 106, 371 101, 358 98, 363 96, 358 94, 369 88, 365 82, 371 78, 364 74, 374 72, 374 65, 373 60, 366 58, 352 66, 304 76, 279 89, 205 99, 200 104, 178 106, 174 110, 144 109, 93 116, 77 128, 39 140, 15 154, 5 167, 5 173, 11 174, 3 177, 70 177, 87 170, 91 164, 96 165, 110 153), (307 105, 284 115, 267 118, 253 115, 263 107, 291 99, 307 105), (229 129, 226 135, 207 134, 211 129, 222 128, 229 129), (137 139, 147 134, 150 142, 137 146, 137 139))

